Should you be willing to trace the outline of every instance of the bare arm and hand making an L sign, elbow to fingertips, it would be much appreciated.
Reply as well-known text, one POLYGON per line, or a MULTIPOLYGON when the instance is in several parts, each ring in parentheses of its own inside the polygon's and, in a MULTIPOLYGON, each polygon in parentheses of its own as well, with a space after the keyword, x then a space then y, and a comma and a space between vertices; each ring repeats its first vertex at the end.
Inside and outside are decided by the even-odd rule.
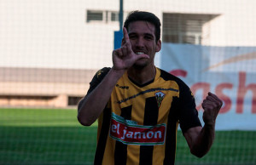
POLYGON ((108 71, 93 91, 79 103, 78 120, 84 126, 90 126, 101 115, 107 105, 114 85, 125 71, 141 58, 149 58, 147 54, 135 54, 131 49, 128 32, 124 28, 121 48, 113 50, 113 68, 108 71))

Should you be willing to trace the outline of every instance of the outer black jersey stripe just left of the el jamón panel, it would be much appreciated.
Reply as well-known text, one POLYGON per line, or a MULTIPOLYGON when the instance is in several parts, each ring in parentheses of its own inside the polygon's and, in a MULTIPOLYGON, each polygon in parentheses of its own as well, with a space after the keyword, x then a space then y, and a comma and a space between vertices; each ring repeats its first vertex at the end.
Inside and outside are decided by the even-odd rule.
POLYGON ((98 140, 97 148, 96 148, 96 154, 95 154, 95 159, 94 159, 94 164, 102 164, 103 156, 104 156, 104 151, 105 147, 107 144, 107 139, 108 139, 108 130, 109 130, 109 125, 110 125, 110 109, 106 108, 103 112, 103 119, 102 119, 102 128, 101 128, 101 133, 100 137, 98 140))

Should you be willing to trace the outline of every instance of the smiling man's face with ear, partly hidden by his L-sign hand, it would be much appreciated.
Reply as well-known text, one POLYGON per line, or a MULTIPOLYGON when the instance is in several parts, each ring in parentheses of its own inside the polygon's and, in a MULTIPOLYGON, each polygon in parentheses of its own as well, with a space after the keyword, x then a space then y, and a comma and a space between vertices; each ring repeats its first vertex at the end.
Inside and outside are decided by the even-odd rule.
POLYGON ((145 67, 154 65, 154 54, 160 51, 160 40, 155 42, 155 27, 147 21, 131 22, 128 26, 128 35, 131 48, 135 54, 148 54, 149 59, 137 60, 134 66, 145 67))

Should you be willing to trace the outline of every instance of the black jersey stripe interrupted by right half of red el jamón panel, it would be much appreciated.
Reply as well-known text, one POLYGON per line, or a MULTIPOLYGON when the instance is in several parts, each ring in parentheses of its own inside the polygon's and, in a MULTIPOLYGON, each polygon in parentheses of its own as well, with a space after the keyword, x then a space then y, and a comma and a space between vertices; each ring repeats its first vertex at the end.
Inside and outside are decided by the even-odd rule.
MULTIPOLYGON (((155 97, 146 100, 143 125, 153 126, 157 124, 158 106, 155 97)), ((152 164, 154 145, 140 146, 140 165, 152 164)))

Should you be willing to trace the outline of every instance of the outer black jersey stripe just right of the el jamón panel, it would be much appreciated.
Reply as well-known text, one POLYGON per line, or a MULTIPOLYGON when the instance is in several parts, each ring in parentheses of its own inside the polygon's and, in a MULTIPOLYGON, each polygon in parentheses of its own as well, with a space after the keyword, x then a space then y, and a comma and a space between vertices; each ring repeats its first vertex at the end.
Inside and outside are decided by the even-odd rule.
POLYGON ((177 98, 172 99, 172 105, 168 116, 166 128, 166 151, 164 165, 172 165, 175 162, 176 152, 176 127, 177 127, 177 98))

